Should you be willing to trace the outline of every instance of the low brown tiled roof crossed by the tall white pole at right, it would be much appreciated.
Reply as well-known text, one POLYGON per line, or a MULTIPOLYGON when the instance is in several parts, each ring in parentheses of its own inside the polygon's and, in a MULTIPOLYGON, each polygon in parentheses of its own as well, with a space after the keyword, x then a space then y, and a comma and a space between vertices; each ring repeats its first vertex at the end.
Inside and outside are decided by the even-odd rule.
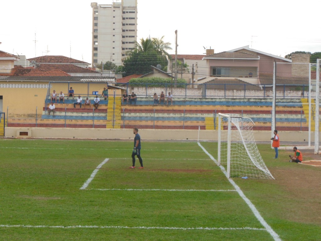
MULTIPOLYGON (((261 85, 273 85, 273 75, 260 75, 261 85)), ((277 85, 308 85, 308 77, 282 77, 276 76, 275 82, 277 85)))

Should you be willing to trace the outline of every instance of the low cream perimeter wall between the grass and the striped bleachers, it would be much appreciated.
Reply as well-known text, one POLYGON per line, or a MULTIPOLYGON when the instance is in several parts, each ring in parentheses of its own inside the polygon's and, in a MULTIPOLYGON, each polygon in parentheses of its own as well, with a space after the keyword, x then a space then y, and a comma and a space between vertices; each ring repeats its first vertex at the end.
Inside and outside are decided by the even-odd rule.
MULTIPOLYGON (((256 141, 269 141, 271 131, 253 131, 256 141)), ((216 130, 176 130, 176 129, 140 129, 142 139, 151 140, 217 140, 216 130)), ((282 141, 308 141, 308 131, 282 131, 282 141)), ((131 139, 132 129, 86 129, 86 128, 41 128, 41 127, 6 127, 8 138, 75 138, 75 139, 131 139)), ((311 133, 314 141, 314 132, 311 133)))

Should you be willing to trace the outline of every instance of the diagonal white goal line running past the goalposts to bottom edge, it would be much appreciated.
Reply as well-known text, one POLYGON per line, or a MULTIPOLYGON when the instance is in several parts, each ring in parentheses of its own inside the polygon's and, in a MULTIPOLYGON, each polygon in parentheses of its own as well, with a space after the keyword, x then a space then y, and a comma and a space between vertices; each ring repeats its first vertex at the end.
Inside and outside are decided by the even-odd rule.
MULTIPOLYGON (((208 151, 199 143, 197 144, 203 149, 203 151, 216 163, 217 160, 210 154, 208 151)), ((220 165, 220 168, 224 175, 226 176, 225 168, 220 165)), ((235 190, 239 193, 240 197, 246 202, 246 204, 249 206, 249 208, 252 210, 253 214, 257 218, 257 220, 263 225, 263 227, 266 229, 266 231, 273 237, 275 241, 282 241, 282 239, 279 237, 279 235, 270 227, 270 225, 267 224, 267 222, 263 219, 259 211, 256 209, 254 204, 245 196, 245 194, 242 192, 242 190, 239 188, 239 186, 231 179, 228 178, 229 182, 232 184, 232 186, 235 188, 235 190)))

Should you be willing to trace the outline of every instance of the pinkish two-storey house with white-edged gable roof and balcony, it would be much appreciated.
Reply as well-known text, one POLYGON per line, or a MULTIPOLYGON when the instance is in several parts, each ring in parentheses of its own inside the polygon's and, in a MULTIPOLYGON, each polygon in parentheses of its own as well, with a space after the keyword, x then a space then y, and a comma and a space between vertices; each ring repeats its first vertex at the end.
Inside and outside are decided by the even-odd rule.
POLYGON ((207 61, 207 78, 202 83, 214 78, 237 78, 250 84, 272 85, 274 63, 277 85, 307 83, 308 55, 293 54, 292 59, 288 59, 244 46, 207 55, 203 60, 207 61))

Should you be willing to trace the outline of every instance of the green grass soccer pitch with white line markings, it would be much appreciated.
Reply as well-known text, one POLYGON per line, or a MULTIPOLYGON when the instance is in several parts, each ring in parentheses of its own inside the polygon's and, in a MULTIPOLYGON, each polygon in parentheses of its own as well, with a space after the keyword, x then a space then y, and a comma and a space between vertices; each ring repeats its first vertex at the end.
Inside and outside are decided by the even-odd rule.
MULTIPOLYGON (((0 240, 321 239, 321 219, 296 219, 308 213, 282 182, 227 179, 217 143, 142 141, 144 169, 128 168, 132 148, 0 139, 0 240)), ((273 175, 289 168, 269 145, 259 150, 273 175)))

